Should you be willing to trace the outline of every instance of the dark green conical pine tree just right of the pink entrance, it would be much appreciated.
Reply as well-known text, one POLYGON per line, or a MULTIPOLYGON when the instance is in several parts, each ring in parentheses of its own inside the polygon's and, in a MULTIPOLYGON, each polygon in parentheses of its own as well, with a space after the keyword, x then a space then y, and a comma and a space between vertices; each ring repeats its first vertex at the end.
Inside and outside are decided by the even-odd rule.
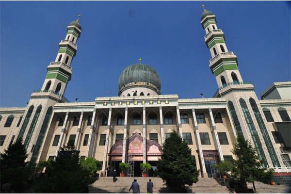
POLYGON ((162 160, 157 163, 159 176, 169 187, 184 187, 198 181, 199 170, 191 149, 173 131, 162 146, 162 160))

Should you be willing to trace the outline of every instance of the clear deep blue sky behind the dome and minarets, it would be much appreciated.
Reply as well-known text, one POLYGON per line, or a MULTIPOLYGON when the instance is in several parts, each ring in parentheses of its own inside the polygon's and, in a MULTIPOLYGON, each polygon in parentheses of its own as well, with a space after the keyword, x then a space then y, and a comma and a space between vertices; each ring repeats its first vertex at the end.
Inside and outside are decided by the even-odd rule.
POLYGON ((81 38, 65 97, 118 94, 128 65, 154 67, 162 94, 212 97, 217 83, 200 24, 201 4, 216 15, 244 81, 259 95, 291 81, 291 9, 286 1, 1 1, 0 106, 25 107, 41 89, 66 26, 81 14, 81 38))

